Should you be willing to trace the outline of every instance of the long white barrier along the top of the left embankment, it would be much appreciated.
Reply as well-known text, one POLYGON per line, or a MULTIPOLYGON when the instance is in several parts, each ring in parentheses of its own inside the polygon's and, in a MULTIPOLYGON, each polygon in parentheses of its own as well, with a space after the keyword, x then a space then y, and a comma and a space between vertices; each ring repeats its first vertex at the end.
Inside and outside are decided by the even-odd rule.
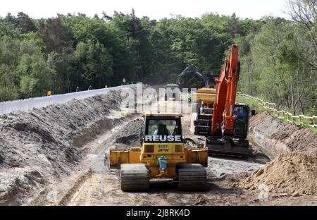
POLYGON ((33 108, 39 109, 51 104, 63 104, 69 102, 72 99, 85 99, 87 97, 93 97, 97 94, 106 94, 108 91, 121 90, 124 87, 132 87, 132 85, 120 85, 117 87, 108 87, 99 90, 87 90, 82 92, 72 92, 66 94, 56 94, 46 97, 35 97, 30 99, 19 99, 7 102, 0 102, 0 115, 8 114, 12 111, 27 111, 33 108))

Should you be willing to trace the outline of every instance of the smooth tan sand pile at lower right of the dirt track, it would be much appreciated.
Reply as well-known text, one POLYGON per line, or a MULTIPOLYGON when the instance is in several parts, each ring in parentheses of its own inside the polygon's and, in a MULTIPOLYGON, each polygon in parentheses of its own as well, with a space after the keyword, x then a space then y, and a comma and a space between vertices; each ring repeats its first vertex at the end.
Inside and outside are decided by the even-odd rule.
POLYGON ((311 152, 281 154, 234 187, 256 190, 261 184, 266 184, 271 193, 317 195, 317 155, 311 152))

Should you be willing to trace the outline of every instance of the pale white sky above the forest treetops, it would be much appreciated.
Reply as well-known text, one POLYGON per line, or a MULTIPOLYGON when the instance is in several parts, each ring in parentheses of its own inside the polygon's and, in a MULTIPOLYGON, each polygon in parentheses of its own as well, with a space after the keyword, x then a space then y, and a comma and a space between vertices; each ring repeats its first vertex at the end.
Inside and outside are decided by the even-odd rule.
POLYGON ((105 11, 108 16, 113 11, 130 13, 135 8, 138 17, 151 19, 170 18, 175 15, 196 18, 207 12, 231 16, 235 13, 240 18, 259 19, 263 16, 287 18, 287 0, 2 0, 0 16, 8 12, 16 15, 23 11, 32 18, 50 18, 57 13, 85 13, 101 16, 105 11))

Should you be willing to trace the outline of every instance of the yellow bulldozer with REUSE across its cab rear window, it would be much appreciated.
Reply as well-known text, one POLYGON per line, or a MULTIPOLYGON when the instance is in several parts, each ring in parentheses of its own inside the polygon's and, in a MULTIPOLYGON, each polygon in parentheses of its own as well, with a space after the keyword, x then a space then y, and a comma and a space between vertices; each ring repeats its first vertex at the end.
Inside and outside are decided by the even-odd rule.
POLYGON ((110 150, 110 168, 120 169, 121 190, 149 190, 153 178, 173 179, 179 190, 206 188, 208 149, 185 147, 181 118, 181 114, 144 114, 141 147, 110 150))

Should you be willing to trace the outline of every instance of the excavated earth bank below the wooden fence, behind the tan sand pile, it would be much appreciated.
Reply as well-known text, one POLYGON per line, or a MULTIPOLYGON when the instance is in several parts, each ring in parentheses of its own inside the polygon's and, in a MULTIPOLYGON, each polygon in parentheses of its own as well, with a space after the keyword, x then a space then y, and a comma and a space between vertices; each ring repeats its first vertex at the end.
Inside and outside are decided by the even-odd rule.
POLYGON ((294 150, 317 153, 316 133, 278 122, 266 111, 250 118, 249 135, 276 155, 294 150))

